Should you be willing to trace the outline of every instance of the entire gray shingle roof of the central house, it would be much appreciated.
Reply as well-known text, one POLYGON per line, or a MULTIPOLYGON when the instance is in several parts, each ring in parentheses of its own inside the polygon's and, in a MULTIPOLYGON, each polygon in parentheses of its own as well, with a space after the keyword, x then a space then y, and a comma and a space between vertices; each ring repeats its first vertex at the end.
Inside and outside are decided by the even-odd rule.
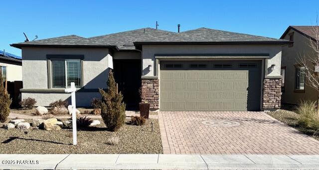
POLYGON ((76 35, 49 38, 30 42, 12 44, 14 47, 61 45, 61 46, 116 46, 120 50, 135 50, 136 44, 141 43, 287 43, 287 40, 220 31, 209 28, 198 28, 180 33, 154 28, 142 28, 131 31, 107 34, 91 38, 76 35))

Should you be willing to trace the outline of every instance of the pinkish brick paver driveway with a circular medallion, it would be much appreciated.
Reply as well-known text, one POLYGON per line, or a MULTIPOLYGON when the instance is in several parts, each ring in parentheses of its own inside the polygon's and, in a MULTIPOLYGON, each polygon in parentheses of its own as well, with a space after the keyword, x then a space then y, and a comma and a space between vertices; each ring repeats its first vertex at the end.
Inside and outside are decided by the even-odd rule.
POLYGON ((264 112, 159 112, 159 122, 164 154, 319 154, 319 141, 264 112))

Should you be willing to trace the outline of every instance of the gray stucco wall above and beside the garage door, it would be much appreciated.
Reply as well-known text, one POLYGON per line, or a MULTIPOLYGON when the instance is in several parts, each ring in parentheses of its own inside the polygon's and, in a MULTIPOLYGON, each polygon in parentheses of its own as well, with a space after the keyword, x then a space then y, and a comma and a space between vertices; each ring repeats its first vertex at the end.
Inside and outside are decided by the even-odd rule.
MULTIPOLYGON (((269 54, 267 68, 275 64, 276 70, 266 76, 280 76, 281 45, 143 45, 143 76, 155 76, 155 54, 269 54)), ((271 69, 268 69, 271 70, 271 69)))

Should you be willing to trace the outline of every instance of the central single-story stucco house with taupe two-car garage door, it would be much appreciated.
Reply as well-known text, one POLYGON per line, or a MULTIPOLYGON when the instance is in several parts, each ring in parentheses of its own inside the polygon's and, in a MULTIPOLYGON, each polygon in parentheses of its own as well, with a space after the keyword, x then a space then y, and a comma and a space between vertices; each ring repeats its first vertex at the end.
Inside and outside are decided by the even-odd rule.
POLYGON ((108 59, 128 106, 143 100, 161 111, 271 110, 280 107, 282 46, 261 36, 198 28, 169 32, 153 28, 83 38, 76 35, 11 44, 22 50, 22 98, 47 106, 69 99, 89 106, 107 88, 108 59), (278 87, 279 86, 279 87, 278 87))

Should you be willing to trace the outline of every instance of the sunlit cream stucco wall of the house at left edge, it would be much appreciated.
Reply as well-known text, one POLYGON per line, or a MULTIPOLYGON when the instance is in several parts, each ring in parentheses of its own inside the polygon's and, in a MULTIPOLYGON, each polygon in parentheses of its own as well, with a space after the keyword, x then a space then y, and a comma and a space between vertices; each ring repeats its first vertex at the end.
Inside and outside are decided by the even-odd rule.
POLYGON ((7 63, 0 63, 0 66, 6 67, 8 82, 22 81, 22 66, 7 63))

